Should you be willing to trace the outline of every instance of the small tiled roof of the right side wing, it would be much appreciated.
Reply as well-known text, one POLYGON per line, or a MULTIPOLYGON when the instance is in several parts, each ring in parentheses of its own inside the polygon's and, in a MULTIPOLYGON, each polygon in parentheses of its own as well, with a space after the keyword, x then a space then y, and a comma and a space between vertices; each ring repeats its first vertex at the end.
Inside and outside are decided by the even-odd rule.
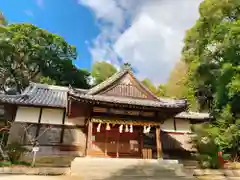
POLYGON ((181 112, 175 116, 175 118, 181 119, 211 119, 209 113, 199 113, 199 112, 181 112))

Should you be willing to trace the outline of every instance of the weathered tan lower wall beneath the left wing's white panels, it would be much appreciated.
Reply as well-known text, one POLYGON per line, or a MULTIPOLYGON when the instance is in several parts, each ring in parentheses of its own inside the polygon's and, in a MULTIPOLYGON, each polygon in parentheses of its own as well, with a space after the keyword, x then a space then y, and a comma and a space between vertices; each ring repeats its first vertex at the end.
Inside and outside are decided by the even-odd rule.
MULTIPOLYGON (((84 156, 86 150, 85 128, 75 126, 53 126, 40 124, 26 124, 14 122, 8 143, 19 142, 32 149, 32 143, 37 140, 40 150, 39 156, 48 155, 76 155, 84 156), (36 133, 39 128, 39 134, 36 133), (63 137, 61 138, 61 136, 63 137), (36 138, 37 137, 37 138, 36 138)), ((30 153, 31 154, 31 153, 30 153)), ((31 155, 32 156, 32 155, 31 155)))

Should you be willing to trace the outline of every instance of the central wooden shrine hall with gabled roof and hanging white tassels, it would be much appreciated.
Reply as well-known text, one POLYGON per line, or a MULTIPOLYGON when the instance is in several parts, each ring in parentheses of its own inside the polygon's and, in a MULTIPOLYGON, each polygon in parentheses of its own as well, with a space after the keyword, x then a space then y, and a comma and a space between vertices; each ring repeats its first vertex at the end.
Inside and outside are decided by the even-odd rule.
POLYGON ((90 90, 68 91, 67 115, 85 120, 85 155, 93 157, 160 158, 161 124, 186 108, 185 100, 155 96, 130 69, 90 90))

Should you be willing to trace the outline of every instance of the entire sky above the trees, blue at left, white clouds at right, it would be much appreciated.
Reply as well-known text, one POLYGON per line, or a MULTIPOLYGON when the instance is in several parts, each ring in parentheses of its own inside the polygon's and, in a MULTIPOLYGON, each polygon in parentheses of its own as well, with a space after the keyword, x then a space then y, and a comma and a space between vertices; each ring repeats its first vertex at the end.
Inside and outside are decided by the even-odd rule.
POLYGON ((29 22, 75 45, 76 65, 128 62, 142 80, 165 83, 181 59, 202 0, 0 0, 10 23, 29 22))

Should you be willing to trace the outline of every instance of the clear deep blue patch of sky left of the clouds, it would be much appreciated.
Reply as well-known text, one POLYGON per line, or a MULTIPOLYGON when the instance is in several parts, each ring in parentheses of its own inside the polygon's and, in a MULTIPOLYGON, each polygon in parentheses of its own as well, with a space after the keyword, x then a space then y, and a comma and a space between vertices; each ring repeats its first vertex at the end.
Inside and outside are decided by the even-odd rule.
POLYGON ((99 30, 94 14, 86 6, 75 0, 1 0, 0 11, 9 23, 29 22, 63 36, 77 47, 76 65, 90 69, 91 54, 86 42, 94 39, 99 30))

